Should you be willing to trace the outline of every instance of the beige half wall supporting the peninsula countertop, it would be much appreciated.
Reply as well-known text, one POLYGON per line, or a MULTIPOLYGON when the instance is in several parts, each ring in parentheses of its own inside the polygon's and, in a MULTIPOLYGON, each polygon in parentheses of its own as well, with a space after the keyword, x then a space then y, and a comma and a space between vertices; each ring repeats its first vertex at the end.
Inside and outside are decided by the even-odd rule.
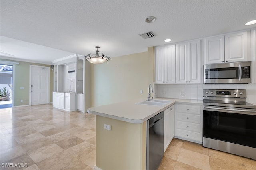
POLYGON ((147 122, 128 123, 96 115, 96 166, 102 170, 146 169, 147 122), (111 131, 104 129, 111 125, 111 131))

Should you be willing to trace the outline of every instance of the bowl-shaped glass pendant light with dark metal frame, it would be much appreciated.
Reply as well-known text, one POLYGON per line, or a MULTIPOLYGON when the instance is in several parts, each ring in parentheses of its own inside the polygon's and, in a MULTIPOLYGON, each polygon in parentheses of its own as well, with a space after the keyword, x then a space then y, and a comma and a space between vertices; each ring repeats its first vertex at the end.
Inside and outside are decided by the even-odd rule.
POLYGON ((105 63, 106 61, 109 61, 110 60, 110 57, 102 54, 102 55, 99 55, 99 48, 98 46, 95 47, 96 48, 96 54, 88 54, 86 56, 84 56, 84 59, 86 61, 89 61, 90 63, 92 64, 101 64, 101 63, 105 63))

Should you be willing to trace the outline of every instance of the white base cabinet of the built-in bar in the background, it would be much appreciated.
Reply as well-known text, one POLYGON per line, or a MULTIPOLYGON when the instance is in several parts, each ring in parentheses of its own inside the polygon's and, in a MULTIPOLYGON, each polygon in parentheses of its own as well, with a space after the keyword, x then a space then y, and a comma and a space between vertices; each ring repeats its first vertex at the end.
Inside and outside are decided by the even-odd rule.
POLYGON ((52 105, 55 108, 66 110, 66 111, 75 111, 75 96, 76 93, 60 93, 53 92, 52 94, 52 105))

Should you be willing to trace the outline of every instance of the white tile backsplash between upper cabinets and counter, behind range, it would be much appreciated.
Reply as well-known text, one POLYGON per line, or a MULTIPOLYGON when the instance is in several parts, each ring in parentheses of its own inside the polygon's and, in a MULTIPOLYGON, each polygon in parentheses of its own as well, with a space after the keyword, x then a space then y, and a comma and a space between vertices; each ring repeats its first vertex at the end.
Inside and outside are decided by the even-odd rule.
POLYGON ((251 84, 155 84, 154 96, 178 99, 203 99, 203 89, 246 89, 249 103, 256 103, 256 83, 251 84))

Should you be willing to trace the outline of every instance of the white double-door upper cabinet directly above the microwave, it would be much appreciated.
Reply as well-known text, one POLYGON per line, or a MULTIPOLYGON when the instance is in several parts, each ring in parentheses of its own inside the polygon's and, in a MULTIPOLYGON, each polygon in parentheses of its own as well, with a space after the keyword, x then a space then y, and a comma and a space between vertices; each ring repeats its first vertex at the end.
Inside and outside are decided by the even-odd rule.
POLYGON ((204 64, 248 60, 250 31, 204 38, 204 64))

